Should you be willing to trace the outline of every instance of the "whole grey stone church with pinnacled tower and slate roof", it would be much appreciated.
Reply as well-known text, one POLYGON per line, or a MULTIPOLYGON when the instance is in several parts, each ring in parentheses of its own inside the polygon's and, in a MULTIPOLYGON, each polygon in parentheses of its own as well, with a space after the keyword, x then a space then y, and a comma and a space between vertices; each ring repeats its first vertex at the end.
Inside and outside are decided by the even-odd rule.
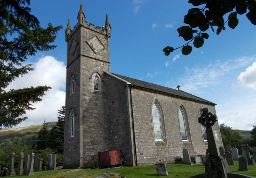
MULTIPOLYGON (((205 155, 207 137, 198 123, 202 108, 216 114, 215 104, 182 90, 111 73, 109 38, 104 28, 85 21, 65 31, 67 42, 64 167, 84 165, 83 158, 120 150, 132 165, 173 162, 186 148, 205 155)), ((219 146, 218 123, 214 125, 219 146)))

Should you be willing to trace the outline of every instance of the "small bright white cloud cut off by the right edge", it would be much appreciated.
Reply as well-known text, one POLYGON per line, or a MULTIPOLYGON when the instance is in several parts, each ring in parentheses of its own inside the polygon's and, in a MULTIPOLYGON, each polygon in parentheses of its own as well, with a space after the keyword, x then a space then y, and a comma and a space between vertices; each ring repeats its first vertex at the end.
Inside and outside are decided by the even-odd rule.
POLYGON ((256 62, 241 72, 237 80, 242 86, 256 90, 256 62))

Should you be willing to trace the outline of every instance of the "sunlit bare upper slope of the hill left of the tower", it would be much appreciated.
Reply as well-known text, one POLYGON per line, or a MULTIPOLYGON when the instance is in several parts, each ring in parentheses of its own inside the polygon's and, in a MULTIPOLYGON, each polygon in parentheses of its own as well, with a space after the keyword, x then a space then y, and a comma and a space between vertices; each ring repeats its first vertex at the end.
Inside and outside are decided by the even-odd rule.
MULTIPOLYGON (((47 128, 51 129, 55 124, 56 121, 47 122, 47 128)), ((0 140, 13 138, 13 137, 22 137, 28 134, 35 134, 37 133, 43 124, 36 124, 36 125, 29 125, 26 127, 19 127, 19 128, 3 128, 0 130, 0 140)))

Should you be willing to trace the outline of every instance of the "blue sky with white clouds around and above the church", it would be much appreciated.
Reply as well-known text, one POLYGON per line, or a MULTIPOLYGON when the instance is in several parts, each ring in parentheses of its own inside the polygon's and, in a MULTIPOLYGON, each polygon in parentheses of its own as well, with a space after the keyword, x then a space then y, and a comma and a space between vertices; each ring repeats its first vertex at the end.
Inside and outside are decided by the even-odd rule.
MULTIPOLYGON (((110 41, 111 72, 147 82, 175 88, 216 103, 219 124, 234 129, 252 130, 256 121, 256 53, 255 26, 245 15, 239 24, 218 36, 210 35, 201 48, 184 56, 175 50, 169 56, 166 46, 179 47, 185 42, 178 37, 184 15, 193 8, 187 1, 113 0, 82 1, 86 21, 104 26, 108 14, 112 27, 110 41)), ((32 14, 46 27, 62 25, 55 50, 29 57, 35 71, 15 80, 8 88, 48 85, 52 90, 37 109, 27 112, 29 119, 19 126, 57 120, 58 109, 65 105, 66 42, 65 28, 77 23, 81 1, 32 0, 32 14)), ((216 31, 216 28, 215 28, 216 31)), ((191 44, 192 45, 192 44, 191 44)))

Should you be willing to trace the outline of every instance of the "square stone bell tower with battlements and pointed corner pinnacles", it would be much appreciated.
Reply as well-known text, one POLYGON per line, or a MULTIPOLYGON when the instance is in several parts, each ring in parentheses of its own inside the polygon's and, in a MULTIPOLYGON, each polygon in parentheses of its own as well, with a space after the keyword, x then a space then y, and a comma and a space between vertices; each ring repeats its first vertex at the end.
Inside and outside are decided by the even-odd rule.
POLYGON ((77 24, 66 27, 66 120, 64 167, 83 166, 81 157, 97 154, 107 147, 105 128, 104 72, 110 72, 109 38, 111 26, 95 27, 85 21, 81 2, 77 24), (102 137, 99 138, 99 132, 102 137))

